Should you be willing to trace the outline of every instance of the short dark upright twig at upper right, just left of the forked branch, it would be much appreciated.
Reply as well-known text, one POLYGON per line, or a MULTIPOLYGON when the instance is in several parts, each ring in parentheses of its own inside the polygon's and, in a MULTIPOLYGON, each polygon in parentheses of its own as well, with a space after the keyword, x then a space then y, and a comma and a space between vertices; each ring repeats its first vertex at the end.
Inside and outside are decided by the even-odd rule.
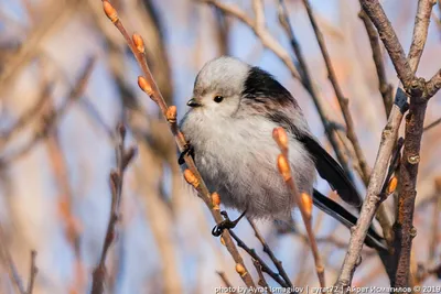
POLYGON ((373 52, 373 59, 375 63, 375 68, 377 69, 377 76, 378 76, 378 88, 379 92, 381 94, 383 97, 383 104, 385 106, 385 111, 386 111, 386 118, 389 117, 390 110, 394 105, 394 87, 391 84, 387 81, 386 77, 386 68, 385 68, 385 63, 383 61, 383 54, 381 54, 381 47, 379 44, 378 40, 378 33, 375 30, 374 24, 369 20, 369 18, 366 15, 366 12, 361 10, 358 13, 358 17, 362 19, 366 33, 369 36, 369 43, 370 43, 370 48, 373 52))

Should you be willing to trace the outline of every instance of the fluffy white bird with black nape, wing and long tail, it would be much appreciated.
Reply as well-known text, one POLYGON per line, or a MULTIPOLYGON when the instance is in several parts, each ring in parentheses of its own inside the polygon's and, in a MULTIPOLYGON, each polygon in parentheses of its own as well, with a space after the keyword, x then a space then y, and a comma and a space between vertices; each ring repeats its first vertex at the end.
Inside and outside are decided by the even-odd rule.
MULTIPOLYGON (((208 189, 220 195, 226 208, 243 213, 227 228, 243 216, 292 222, 295 199, 276 165, 280 150, 272 131, 280 127, 289 137, 298 190, 312 195, 316 207, 346 227, 355 225, 352 213, 314 188, 316 173, 358 210, 363 198, 312 134, 298 101, 271 74, 233 56, 214 58, 198 72, 187 106, 179 123, 189 142, 180 163, 191 154, 208 189)), ((373 228, 366 244, 385 248, 373 228)))

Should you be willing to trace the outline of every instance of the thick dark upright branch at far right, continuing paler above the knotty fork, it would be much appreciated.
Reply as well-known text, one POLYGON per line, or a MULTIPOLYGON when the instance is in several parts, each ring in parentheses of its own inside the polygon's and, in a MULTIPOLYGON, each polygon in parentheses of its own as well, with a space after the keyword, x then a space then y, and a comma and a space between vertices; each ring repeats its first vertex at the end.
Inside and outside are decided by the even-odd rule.
MULTIPOLYGON (((409 51, 409 64, 415 73, 424 48, 430 14, 434 6, 433 0, 419 0, 415 20, 412 43, 409 51)), ((421 81, 420 79, 418 81, 421 81)), ((410 252, 412 239, 416 236, 413 227, 415 199, 417 197, 417 176, 420 162, 421 139, 423 132, 424 115, 427 109, 423 92, 412 90, 410 92, 409 113, 406 117, 405 146, 400 164, 398 214, 395 228, 394 261, 397 264, 392 286, 408 286, 410 273, 410 252)))

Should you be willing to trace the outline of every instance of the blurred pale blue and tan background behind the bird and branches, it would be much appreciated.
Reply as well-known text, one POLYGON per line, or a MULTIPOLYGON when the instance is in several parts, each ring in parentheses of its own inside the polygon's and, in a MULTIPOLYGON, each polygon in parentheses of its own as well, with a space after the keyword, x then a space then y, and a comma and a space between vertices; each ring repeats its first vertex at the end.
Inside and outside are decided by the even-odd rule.
MULTIPOLYGON (((251 0, 225 3, 254 18, 251 0)), ((279 22, 279 1, 263 3, 269 33, 294 56, 279 22)), ((386 115, 358 1, 311 3, 372 166, 386 115)), ((201 1, 114 0, 112 4, 129 33, 143 36, 153 76, 166 101, 176 105, 179 118, 186 111, 198 69, 229 54, 273 74, 298 99, 314 134, 334 154, 311 96, 249 26, 201 1)), ((344 126, 302 1, 287 0, 286 4, 326 113, 344 126)), ((381 4, 408 51, 417 1, 384 0, 381 4)), ((426 78, 440 67, 440 11, 435 6, 418 69, 426 78)), ((137 146, 138 154, 125 176, 105 293, 215 293, 224 285, 217 272, 225 273, 233 285, 244 285, 233 259, 211 235, 215 224, 208 209, 183 181, 168 123, 138 88, 140 69, 104 14, 101 1, 0 0, 0 293, 19 293, 13 272, 28 283, 31 250, 36 251, 39 269, 33 293, 89 293, 109 219, 109 173, 116 167, 119 121, 127 126, 127 144, 137 146)), ((396 89, 398 79, 386 53, 384 61, 387 80, 396 89)), ((426 124, 440 113, 439 94, 430 102, 426 124)), ((435 188, 441 176, 440 140, 441 126, 424 132, 422 140, 415 272, 441 262, 441 187, 435 188)), ((364 193, 362 181, 357 176, 356 181, 364 193)), ((335 196, 321 181, 318 187, 335 196)), ((257 226, 293 284, 318 286, 304 226, 300 214, 294 215, 295 232, 280 233, 270 221, 257 226)), ((315 209, 313 224, 332 285, 349 232, 315 209)), ((247 221, 235 231, 269 261, 247 221)), ((240 252, 257 281, 252 261, 240 252)), ((388 286, 375 251, 365 248, 363 257, 354 285, 388 286)), ((420 280, 424 285, 441 285, 437 276, 420 280)), ((270 277, 267 281, 277 286, 270 277)))

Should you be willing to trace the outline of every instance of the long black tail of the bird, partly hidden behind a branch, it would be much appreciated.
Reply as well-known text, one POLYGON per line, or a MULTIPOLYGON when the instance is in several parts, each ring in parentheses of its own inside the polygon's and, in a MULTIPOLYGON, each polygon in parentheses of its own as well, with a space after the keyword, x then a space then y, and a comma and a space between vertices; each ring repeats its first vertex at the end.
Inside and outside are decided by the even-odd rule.
MULTIPOLYGON (((353 227, 357 222, 357 218, 347 211, 343 206, 337 204, 336 202, 327 198, 319 190, 314 189, 313 192, 313 204, 320 208, 323 213, 338 220, 342 225, 347 228, 353 227)), ((365 244, 370 248, 387 251, 387 247, 385 244, 384 239, 374 230, 373 227, 367 231, 367 236, 365 239, 365 244)))

